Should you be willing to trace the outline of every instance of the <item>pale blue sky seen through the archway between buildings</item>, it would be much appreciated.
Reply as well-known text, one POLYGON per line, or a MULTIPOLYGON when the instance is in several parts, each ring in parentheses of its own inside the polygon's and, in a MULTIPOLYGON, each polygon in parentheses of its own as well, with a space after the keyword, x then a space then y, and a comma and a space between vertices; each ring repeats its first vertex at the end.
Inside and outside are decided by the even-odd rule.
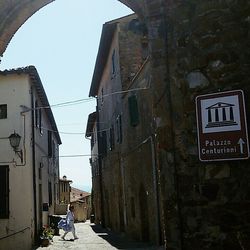
POLYGON ((90 142, 85 138, 88 115, 95 99, 88 99, 102 25, 131 14, 117 0, 56 0, 30 17, 3 54, 0 70, 34 65, 60 133, 60 177, 72 186, 91 190, 90 142), (86 155, 82 157, 63 157, 86 155))

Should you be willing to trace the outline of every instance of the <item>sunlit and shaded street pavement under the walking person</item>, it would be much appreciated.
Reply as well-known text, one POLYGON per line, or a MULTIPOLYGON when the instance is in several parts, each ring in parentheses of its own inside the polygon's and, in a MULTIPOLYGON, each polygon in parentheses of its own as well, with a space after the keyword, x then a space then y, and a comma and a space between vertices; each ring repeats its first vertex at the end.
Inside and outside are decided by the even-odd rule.
MULTIPOLYGON (((81 249, 81 250, 105 250, 105 249, 145 249, 145 250, 162 250, 163 248, 149 246, 142 242, 135 242, 122 235, 115 234, 99 225, 85 223, 76 223, 76 234, 79 239, 73 241, 72 233, 66 235, 66 240, 61 236, 54 236, 53 242, 48 247, 38 247, 37 250, 61 250, 61 249, 81 249)), ((60 235, 63 230, 60 229, 60 235)))

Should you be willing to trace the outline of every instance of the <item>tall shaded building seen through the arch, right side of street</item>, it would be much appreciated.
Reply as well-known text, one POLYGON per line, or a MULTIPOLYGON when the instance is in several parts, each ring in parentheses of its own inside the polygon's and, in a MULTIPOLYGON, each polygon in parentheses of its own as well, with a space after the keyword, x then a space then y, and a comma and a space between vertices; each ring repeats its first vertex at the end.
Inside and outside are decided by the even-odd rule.
POLYGON ((157 214, 158 204, 145 36, 136 15, 104 24, 90 88, 90 96, 97 96, 97 111, 89 116, 87 135, 92 141, 93 207, 101 209, 94 211, 96 221, 157 242, 159 221, 149 216, 157 214), (94 115, 97 127, 91 125, 94 115), (141 166, 148 170, 144 175, 141 166))

